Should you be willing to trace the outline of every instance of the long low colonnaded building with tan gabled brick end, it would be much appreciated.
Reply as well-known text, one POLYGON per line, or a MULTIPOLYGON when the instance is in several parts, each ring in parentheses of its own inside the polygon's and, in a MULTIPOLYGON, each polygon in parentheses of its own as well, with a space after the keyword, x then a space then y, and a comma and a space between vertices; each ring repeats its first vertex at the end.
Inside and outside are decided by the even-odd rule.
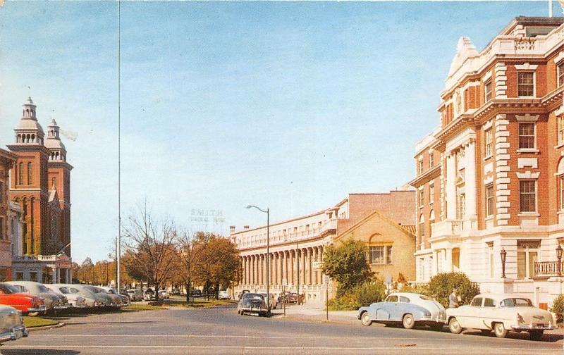
MULTIPOLYGON (((335 206, 269 227, 270 292, 284 289, 305 295, 306 302, 323 302, 325 284, 316 268, 324 247, 345 238, 366 242, 367 260, 380 278, 400 273, 415 280, 415 191, 349 194, 335 206)), ((235 294, 243 289, 266 292, 266 225, 235 231, 231 240, 239 251, 243 275, 235 294)), ((329 285, 330 292, 334 285, 329 285)), ((330 295, 331 297, 331 295, 330 295)))

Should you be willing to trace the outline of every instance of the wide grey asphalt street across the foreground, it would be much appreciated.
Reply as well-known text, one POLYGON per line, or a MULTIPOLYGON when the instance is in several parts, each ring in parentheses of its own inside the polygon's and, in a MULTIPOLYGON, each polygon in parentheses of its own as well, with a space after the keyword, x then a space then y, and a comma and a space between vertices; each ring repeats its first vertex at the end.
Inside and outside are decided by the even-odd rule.
POLYGON ((0 348, 4 355, 74 354, 564 354, 561 333, 539 342, 480 332, 450 334, 281 316, 239 316, 234 306, 173 308, 62 319, 0 348))

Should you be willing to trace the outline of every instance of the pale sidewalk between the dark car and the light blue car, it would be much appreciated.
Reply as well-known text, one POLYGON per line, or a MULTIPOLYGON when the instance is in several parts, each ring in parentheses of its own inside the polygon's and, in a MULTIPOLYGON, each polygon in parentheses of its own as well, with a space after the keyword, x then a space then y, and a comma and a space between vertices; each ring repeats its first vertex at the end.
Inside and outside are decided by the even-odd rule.
POLYGON ((327 320, 325 308, 321 308, 321 306, 307 306, 305 304, 286 306, 286 316, 284 316, 283 309, 273 310, 272 314, 276 318, 317 320, 319 322, 345 324, 360 323, 360 320, 357 319, 357 311, 329 311, 329 320, 327 320))

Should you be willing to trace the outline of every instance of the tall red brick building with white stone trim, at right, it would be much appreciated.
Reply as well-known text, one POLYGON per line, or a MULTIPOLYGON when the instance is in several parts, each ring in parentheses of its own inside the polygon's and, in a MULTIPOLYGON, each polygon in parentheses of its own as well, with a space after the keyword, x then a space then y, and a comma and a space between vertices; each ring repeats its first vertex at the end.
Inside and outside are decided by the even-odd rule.
POLYGON ((441 124, 416 148, 417 281, 462 270, 544 308, 563 293, 563 20, 517 17, 482 51, 458 42, 441 124))

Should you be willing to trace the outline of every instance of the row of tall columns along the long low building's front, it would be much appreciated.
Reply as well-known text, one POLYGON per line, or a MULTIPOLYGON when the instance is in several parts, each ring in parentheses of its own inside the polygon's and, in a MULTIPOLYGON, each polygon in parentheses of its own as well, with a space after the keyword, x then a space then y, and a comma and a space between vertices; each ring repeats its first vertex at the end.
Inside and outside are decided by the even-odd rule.
MULTIPOLYGON (((266 253, 241 256, 243 285, 266 285, 266 253)), ((313 270, 315 261, 323 261, 323 246, 274 251, 270 253, 270 285, 321 285, 321 271, 313 270), (299 264, 298 264, 299 263, 299 264), (298 275, 299 269, 299 275, 298 275)))

